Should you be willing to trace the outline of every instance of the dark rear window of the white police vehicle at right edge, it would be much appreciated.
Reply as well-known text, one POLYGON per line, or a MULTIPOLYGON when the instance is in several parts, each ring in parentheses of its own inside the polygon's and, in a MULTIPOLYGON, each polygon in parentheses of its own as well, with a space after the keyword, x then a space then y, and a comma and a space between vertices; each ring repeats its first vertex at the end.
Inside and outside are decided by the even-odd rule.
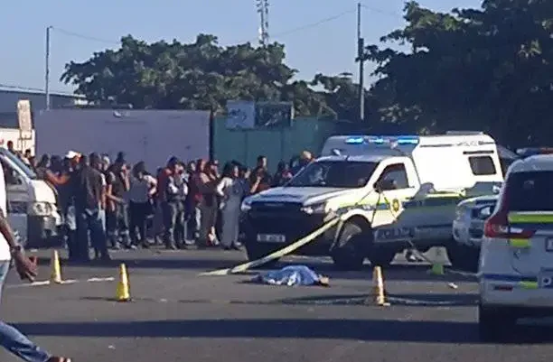
POLYGON ((511 211, 553 211, 553 172, 515 172, 507 180, 511 211))

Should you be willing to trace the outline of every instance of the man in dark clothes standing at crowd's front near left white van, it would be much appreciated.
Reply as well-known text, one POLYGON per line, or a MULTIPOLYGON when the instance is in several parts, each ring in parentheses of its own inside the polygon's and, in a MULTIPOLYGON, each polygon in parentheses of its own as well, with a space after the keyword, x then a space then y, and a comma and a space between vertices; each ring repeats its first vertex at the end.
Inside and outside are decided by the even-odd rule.
MULTIPOLYGON (((93 159, 93 162, 96 161, 93 159)), ((101 213, 104 198, 102 174, 90 166, 87 157, 83 155, 80 157, 80 169, 71 181, 77 216, 76 256, 80 261, 89 261, 90 236, 90 244, 98 249, 98 256, 102 260, 109 260, 101 213)))

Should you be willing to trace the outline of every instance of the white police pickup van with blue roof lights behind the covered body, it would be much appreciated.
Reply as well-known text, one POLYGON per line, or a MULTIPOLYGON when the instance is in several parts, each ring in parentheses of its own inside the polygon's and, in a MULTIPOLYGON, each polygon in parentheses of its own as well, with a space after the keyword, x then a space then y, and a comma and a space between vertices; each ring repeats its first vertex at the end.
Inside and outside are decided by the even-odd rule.
POLYGON ((333 136, 284 187, 243 201, 240 239, 258 259, 340 216, 296 253, 330 255, 342 269, 366 258, 385 266, 410 243, 452 245, 455 205, 501 181, 495 142, 482 133, 333 136))

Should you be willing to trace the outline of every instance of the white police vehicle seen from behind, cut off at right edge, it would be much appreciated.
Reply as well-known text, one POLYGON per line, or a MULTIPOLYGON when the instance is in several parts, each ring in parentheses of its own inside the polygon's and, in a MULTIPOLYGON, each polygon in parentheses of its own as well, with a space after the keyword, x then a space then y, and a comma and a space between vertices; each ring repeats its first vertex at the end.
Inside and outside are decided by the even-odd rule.
POLYGON ((522 317, 553 314, 553 155, 530 156, 507 172, 484 225, 479 330, 509 333, 522 317))

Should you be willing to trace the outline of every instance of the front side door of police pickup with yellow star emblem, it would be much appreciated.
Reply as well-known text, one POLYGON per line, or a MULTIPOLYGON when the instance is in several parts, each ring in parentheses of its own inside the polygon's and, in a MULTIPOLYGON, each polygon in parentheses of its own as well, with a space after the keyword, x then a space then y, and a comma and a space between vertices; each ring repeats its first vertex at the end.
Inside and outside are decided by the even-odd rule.
POLYGON ((389 164, 375 182, 379 190, 379 203, 373 216, 373 227, 379 227, 376 237, 380 241, 406 239, 410 235, 410 220, 404 214, 404 202, 415 192, 414 182, 409 180, 404 162, 389 164))

